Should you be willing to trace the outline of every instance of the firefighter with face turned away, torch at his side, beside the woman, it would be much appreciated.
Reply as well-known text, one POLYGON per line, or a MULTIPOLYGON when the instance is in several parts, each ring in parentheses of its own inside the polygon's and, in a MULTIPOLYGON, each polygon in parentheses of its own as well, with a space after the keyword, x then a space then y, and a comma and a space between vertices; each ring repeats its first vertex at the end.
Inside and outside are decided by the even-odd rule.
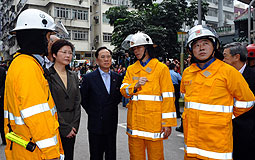
POLYGON ((13 131, 36 144, 33 152, 7 140, 7 160, 62 159, 57 110, 42 68, 50 34, 56 24, 47 13, 37 9, 23 11, 16 27, 20 50, 8 69, 4 113, 5 134, 13 131), (9 127, 8 127, 9 126, 9 127))

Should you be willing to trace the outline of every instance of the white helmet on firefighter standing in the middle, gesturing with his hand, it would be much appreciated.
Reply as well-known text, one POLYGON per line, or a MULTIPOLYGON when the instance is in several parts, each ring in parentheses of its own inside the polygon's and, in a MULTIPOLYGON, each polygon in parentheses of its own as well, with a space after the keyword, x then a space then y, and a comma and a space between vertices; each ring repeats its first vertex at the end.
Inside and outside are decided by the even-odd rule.
POLYGON ((142 32, 137 32, 130 39, 130 48, 148 44, 153 45, 151 37, 142 32))

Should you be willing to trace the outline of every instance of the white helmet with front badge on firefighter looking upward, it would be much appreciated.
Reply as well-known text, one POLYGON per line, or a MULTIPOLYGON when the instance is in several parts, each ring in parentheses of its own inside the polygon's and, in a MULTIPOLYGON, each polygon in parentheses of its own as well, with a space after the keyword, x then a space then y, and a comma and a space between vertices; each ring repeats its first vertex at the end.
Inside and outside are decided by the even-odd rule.
POLYGON ((215 49, 219 49, 220 43, 215 30, 204 25, 197 25, 188 32, 187 49, 189 52, 192 51, 192 43, 201 38, 211 39, 214 42, 215 49))

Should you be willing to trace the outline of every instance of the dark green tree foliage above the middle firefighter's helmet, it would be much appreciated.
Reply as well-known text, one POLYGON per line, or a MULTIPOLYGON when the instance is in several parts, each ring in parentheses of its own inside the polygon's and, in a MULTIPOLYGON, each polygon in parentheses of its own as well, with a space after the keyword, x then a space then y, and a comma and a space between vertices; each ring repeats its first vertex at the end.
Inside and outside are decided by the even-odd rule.
MULTIPOLYGON (((153 42, 161 46, 168 57, 179 53, 177 32, 183 24, 192 26, 197 17, 197 0, 188 6, 186 0, 164 0, 153 3, 154 0, 132 0, 135 10, 127 7, 111 7, 107 12, 110 24, 114 26, 111 44, 116 50, 121 49, 121 43, 129 35, 138 31, 148 34, 153 42)), ((208 3, 202 1, 202 19, 205 19, 208 3)))

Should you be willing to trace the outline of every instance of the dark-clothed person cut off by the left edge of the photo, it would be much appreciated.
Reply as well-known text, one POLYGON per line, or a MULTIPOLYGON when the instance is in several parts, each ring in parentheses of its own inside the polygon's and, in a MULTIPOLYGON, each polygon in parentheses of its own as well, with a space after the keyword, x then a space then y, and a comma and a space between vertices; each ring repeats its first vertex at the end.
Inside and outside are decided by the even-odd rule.
POLYGON ((5 83, 6 71, 0 66, 0 133, 2 137, 2 143, 6 145, 4 136, 4 83, 5 83))

